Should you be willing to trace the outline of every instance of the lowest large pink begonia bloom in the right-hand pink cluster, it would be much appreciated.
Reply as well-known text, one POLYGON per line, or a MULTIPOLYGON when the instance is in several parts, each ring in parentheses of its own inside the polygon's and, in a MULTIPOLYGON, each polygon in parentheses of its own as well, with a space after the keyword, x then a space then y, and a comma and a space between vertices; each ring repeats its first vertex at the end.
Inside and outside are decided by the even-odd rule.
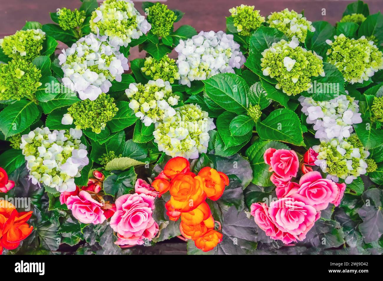
POLYGON ((320 212, 307 202, 289 197, 272 201, 268 214, 280 231, 295 235, 299 240, 306 237, 306 233, 320 217, 320 212))

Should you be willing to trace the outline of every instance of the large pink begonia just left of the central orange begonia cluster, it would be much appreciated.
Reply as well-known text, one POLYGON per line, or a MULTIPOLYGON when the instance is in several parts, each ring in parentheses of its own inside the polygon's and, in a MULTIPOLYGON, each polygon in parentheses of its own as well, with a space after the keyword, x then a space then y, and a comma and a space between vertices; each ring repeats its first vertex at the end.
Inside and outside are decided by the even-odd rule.
POLYGON ((152 218, 154 199, 151 195, 125 194, 116 200, 116 213, 110 226, 117 232, 116 245, 142 245, 152 240, 158 232, 158 224, 152 218))

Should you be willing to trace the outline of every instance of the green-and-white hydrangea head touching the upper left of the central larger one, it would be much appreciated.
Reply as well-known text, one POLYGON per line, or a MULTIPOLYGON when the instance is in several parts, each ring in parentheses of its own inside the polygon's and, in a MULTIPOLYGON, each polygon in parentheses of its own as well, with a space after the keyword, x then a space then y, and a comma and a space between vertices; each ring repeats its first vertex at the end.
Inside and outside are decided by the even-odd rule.
POLYGON ((162 79, 149 80, 144 85, 131 83, 125 93, 130 98, 129 107, 146 126, 174 116, 172 106, 178 104, 180 98, 173 94, 169 81, 162 79))

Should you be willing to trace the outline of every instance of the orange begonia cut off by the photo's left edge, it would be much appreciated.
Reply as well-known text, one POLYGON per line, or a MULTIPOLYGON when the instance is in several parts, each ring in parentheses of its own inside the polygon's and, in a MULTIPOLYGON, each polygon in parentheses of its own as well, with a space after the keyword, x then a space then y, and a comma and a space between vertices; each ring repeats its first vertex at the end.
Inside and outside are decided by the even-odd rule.
POLYGON ((19 213, 11 203, 0 200, 0 254, 3 248, 16 249, 21 240, 31 234, 33 226, 29 226, 26 221, 32 213, 32 211, 19 213))

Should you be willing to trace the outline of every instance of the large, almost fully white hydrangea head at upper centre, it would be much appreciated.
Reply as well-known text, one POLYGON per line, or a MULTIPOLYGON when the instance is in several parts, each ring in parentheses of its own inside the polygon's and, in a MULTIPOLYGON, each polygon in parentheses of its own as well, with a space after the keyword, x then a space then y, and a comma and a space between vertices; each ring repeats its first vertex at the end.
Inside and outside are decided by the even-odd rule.
POLYGON ((191 81, 206 80, 218 73, 234 73, 233 68, 241 68, 246 59, 233 38, 223 31, 201 31, 190 39, 180 40, 174 49, 178 52, 180 84, 190 87, 191 81))

